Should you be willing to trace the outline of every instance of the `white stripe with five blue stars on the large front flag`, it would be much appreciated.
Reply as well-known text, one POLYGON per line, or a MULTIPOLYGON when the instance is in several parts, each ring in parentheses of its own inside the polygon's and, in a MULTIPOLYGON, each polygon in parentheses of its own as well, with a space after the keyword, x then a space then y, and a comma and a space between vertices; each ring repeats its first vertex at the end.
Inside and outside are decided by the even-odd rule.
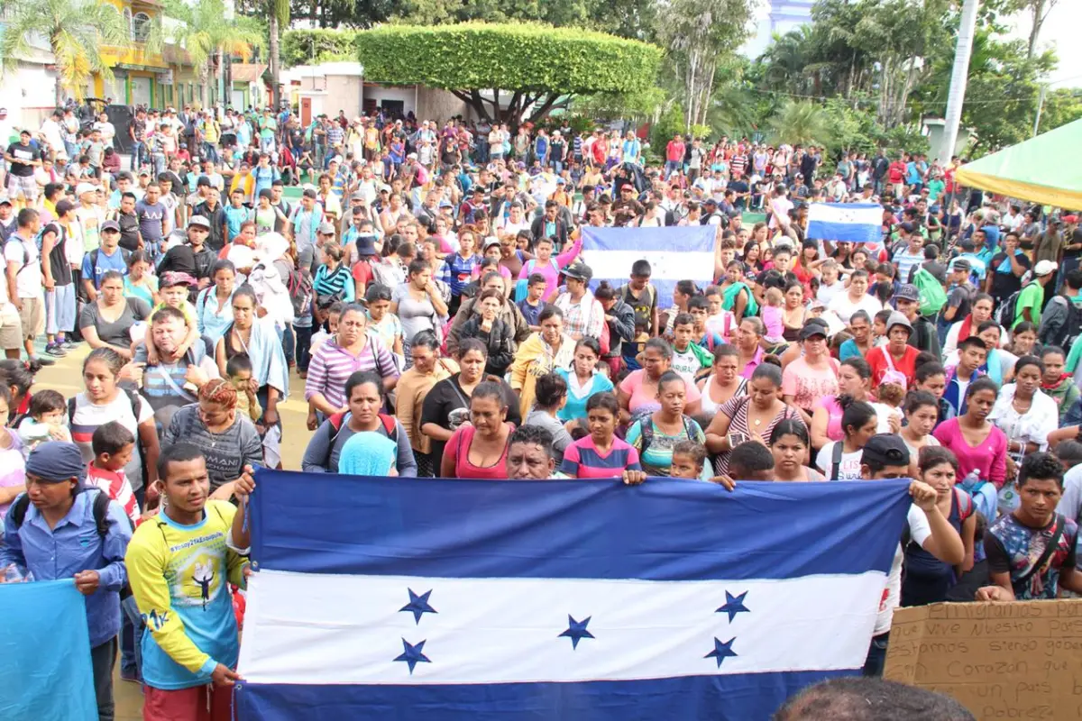
POLYGON ((880 572, 782 580, 421 578, 261 571, 239 672, 251 683, 430 684, 659 679, 859 668, 880 572), (400 611, 409 591, 436 613, 400 611), (718 612, 731 597, 731 620, 718 612), (301 617, 299 617, 299 610, 301 617), (569 636, 568 615, 593 638, 569 636), (736 654, 718 668, 714 639, 736 654), (412 675, 404 640, 430 663, 412 675), (333 659, 333 663, 329 663, 333 659), (797 660, 799 659, 799 660, 797 660))

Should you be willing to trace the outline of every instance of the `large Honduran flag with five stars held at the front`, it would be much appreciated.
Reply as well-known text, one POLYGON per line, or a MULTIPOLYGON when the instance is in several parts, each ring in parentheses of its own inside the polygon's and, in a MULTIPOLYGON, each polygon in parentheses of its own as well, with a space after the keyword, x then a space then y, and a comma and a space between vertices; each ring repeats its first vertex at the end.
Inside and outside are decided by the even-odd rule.
POLYGON ((859 672, 903 481, 261 471, 237 717, 765 720, 859 672))

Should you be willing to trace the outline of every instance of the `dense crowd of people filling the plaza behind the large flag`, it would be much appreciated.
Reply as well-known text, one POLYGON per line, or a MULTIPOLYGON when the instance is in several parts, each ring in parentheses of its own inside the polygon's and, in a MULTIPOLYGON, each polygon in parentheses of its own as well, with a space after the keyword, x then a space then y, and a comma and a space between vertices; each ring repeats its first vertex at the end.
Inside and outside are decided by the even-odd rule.
POLYGON ((958 187, 958 159, 743 138, 189 107, 130 132, 122 171, 107 119, 23 130, 0 196, 0 566, 87 595, 102 719, 118 645, 146 719, 227 718, 291 385, 305 472, 913 479, 869 676, 899 604, 1082 592, 1069 212, 958 187), (881 239, 808 238, 817 202, 881 204, 881 239), (712 283, 593 282, 584 227, 686 225, 712 283), (84 390, 35 383, 80 346, 84 390))

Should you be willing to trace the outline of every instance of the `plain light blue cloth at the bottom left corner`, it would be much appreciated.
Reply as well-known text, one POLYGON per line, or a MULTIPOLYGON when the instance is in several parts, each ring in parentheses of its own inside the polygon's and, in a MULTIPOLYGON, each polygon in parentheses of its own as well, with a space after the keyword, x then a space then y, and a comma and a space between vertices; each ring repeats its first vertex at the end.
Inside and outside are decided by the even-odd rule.
POLYGON ((97 721, 87 601, 74 580, 0 584, 0 719, 97 721))

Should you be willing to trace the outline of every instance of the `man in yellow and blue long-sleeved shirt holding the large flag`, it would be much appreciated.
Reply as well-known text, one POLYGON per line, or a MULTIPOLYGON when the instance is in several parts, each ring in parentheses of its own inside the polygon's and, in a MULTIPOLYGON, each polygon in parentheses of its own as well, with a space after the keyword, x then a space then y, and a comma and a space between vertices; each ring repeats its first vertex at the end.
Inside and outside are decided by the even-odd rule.
MULTIPOLYGON (((146 623, 146 718, 229 718, 240 652, 229 584, 246 586, 245 511, 213 500, 202 453, 166 446, 158 459, 161 511, 136 529, 124 562, 146 623), (210 711, 207 713, 207 711, 210 711), (200 711, 203 712, 200 716, 200 711)), ((241 498, 248 489, 233 489, 241 498)), ((246 550, 247 552, 247 550, 246 550)))

